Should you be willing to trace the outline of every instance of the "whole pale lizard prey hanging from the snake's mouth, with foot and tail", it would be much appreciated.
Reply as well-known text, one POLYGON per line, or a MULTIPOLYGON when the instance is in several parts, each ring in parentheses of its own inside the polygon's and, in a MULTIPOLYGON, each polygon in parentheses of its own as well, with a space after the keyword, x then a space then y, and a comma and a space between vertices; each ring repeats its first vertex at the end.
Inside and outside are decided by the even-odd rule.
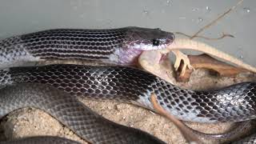
POLYGON ((256 68, 254 66, 246 64, 245 62, 242 62, 242 60, 234 58, 234 56, 214 48, 214 46, 207 45, 203 42, 194 41, 189 38, 174 38, 174 42, 172 42, 164 50, 143 51, 138 58, 138 62, 143 69, 150 71, 150 73, 174 84, 176 82, 174 78, 174 70, 178 70, 182 61, 184 64, 182 65, 181 75, 185 74, 186 68, 194 70, 193 66, 190 65, 190 59, 180 50, 196 50, 202 53, 210 54, 211 56, 220 58, 226 62, 230 62, 234 65, 242 67, 245 70, 256 73, 256 68), (176 56, 174 68, 170 66, 170 62, 162 61, 162 57, 170 52, 173 52, 176 56))

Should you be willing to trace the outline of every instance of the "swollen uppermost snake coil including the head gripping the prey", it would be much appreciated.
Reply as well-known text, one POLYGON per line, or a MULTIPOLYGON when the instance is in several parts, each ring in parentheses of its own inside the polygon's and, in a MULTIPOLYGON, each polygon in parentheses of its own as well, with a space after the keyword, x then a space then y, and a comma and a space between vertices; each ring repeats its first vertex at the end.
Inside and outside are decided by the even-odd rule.
POLYGON ((142 50, 163 49, 173 40, 172 33, 141 27, 44 30, 0 41, 0 64, 74 59, 131 65, 142 50))

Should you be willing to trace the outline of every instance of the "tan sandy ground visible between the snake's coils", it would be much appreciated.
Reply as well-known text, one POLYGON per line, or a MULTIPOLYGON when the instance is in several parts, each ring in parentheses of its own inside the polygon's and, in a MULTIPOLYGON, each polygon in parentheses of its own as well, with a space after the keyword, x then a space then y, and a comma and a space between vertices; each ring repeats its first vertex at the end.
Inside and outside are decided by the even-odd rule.
MULTIPOLYGON (((191 75, 190 82, 178 83, 178 85, 192 90, 207 90, 237 82, 255 80, 256 75, 254 74, 239 74, 235 78, 218 78, 211 76, 207 70, 195 70, 191 75)), ((145 130, 167 143, 186 143, 182 134, 171 122, 149 110, 118 102, 83 102, 98 114, 102 114, 102 116, 114 122, 145 130)), ((198 124, 191 122, 187 122, 187 124, 196 130, 208 133, 223 132, 230 127, 230 124, 198 124)), ((1 140, 35 135, 55 135, 86 143, 42 110, 31 108, 16 110, 3 118, 0 126, 1 140)))

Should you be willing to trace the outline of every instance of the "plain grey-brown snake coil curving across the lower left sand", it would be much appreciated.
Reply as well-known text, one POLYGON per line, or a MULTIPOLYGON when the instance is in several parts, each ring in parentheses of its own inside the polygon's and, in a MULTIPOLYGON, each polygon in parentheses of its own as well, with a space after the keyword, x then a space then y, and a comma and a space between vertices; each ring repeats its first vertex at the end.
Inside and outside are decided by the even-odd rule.
MULTIPOLYGON (((17 84, 2 88, 0 94, 0 118, 22 107, 35 107, 51 114, 91 143, 164 143, 142 130, 110 122, 94 113, 77 98, 53 86, 17 84)), ((45 143, 43 139, 38 140, 45 143)))

